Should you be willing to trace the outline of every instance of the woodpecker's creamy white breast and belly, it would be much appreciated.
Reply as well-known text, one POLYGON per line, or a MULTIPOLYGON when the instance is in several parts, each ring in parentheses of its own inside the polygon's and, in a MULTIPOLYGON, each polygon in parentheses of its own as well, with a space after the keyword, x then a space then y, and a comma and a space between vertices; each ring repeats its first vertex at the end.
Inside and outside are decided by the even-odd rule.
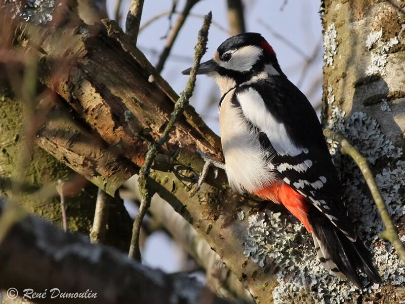
POLYGON ((243 119, 241 109, 232 105, 234 91, 225 96, 219 111, 226 174, 229 184, 238 192, 253 193, 273 182, 276 173, 270 169, 266 151, 243 119))

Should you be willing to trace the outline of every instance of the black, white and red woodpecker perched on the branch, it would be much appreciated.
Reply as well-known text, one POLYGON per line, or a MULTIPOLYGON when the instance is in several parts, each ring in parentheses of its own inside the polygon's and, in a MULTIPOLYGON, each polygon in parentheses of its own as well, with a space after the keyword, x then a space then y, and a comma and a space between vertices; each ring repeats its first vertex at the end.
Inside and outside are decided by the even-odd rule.
POLYGON ((221 89, 220 131, 231 187, 284 205, 312 233, 326 269, 359 288, 358 271, 381 282, 349 218, 316 113, 267 41, 259 33, 230 37, 197 73, 213 77, 221 89))

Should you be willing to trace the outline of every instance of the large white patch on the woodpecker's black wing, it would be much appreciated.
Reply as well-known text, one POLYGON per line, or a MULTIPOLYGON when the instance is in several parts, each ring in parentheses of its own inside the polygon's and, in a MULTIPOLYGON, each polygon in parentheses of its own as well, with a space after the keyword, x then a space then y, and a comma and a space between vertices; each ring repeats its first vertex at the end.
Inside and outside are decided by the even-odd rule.
POLYGON ((244 116, 266 133, 272 146, 279 155, 297 156, 305 153, 304 147, 297 147, 287 134, 286 127, 278 123, 267 110, 263 98, 253 88, 249 88, 237 94, 237 100, 242 108, 244 116))

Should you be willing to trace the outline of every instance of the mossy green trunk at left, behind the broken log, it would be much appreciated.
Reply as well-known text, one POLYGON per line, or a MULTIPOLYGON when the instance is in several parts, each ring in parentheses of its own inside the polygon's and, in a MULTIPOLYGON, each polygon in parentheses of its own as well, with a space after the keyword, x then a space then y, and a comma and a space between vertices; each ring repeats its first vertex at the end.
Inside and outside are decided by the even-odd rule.
MULTIPOLYGON (((69 181, 77 174, 37 145, 32 147, 28 166, 21 167, 26 144, 24 124, 28 119, 23 115, 23 107, 23 102, 15 98, 9 84, 6 81, 0 82, 0 196, 18 196, 19 204, 27 212, 36 213, 62 227, 59 196, 34 193, 37 194, 44 186, 49 186, 52 191, 58 180, 69 181), (23 181, 18 180, 19 168, 24 170, 23 181)), ((97 186, 90 182, 80 185, 73 195, 66 194, 69 231, 89 233, 96 198, 97 186)), ((110 214, 105 243, 126 251, 131 239, 132 220, 120 200, 110 205, 110 214)))

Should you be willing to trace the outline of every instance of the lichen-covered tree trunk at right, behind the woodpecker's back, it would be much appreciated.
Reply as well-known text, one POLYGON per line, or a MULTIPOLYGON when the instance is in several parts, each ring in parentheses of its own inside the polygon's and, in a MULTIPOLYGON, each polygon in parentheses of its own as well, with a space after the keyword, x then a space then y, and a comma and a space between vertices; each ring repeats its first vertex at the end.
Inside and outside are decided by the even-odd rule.
MULTIPOLYGON (((342 131, 370 162, 388 211, 405 241, 405 15, 392 1, 325 1, 323 124, 342 131)), ((401 4, 402 3, 402 4, 401 4)), ((371 249, 383 286, 349 293, 359 302, 398 303, 405 299, 405 268, 392 245, 379 238, 384 225, 359 169, 339 147, 331 152, 341 174, 345 199, 357 233, 371 249)))

